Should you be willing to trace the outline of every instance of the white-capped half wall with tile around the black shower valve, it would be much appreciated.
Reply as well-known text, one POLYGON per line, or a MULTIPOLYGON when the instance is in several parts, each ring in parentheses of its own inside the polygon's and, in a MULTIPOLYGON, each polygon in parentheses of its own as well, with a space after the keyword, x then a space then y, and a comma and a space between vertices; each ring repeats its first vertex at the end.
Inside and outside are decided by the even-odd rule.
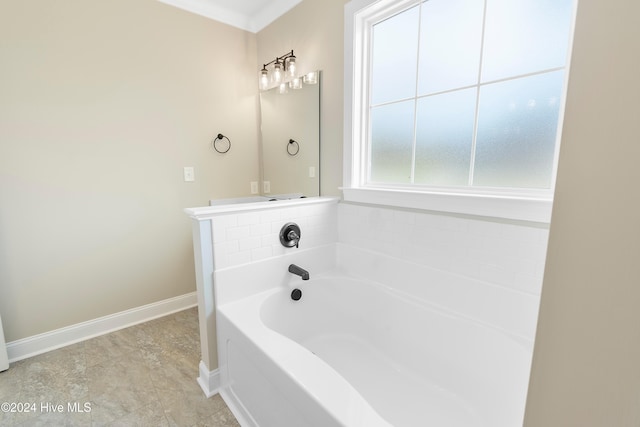
POLYGON ((206 395, 217 393, 219 388, 214 296, 218 286, 214 286, 214 274, 333 244, 338 235, 337 202, 335 198, 313 197, 185 210, 192 220, 200 317, 202 360, 198 382, 206 395), (302 230, 299 248, 280 244, 280 228, 287 222, 297 223, 302 230))

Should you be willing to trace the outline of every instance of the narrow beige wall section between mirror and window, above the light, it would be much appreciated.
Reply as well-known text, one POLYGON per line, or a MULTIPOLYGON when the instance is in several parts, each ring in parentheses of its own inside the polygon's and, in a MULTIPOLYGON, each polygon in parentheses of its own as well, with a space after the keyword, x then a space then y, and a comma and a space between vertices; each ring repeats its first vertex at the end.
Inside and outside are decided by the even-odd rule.
MULTIPOLYGON (((320 192, 342 186, 344 5, 348 0, 304 0, 258 33, 258 63, 293 49, 302 72, 322 70, 320 192)), ((256 69, 256 79, 258 70, 256 69)))

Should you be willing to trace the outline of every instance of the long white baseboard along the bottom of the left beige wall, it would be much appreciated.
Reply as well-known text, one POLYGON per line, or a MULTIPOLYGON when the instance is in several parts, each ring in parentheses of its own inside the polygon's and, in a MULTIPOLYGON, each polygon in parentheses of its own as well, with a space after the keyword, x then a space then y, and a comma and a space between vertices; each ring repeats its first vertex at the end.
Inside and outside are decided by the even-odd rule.
POLYGON ((158 317, 195 307, 196 293, 191 292, 120 313, 56 329, 7 343, 9 362, 26 359, 61 347, 88 340, 158 317))

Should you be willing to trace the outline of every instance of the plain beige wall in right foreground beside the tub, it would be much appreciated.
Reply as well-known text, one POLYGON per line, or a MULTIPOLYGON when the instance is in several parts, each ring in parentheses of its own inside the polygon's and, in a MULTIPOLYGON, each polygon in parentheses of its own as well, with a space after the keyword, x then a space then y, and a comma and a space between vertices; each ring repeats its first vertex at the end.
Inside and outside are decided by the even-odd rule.
POLYGON ((527 427, 640 425, 638 16, 579 3, 527 427))

